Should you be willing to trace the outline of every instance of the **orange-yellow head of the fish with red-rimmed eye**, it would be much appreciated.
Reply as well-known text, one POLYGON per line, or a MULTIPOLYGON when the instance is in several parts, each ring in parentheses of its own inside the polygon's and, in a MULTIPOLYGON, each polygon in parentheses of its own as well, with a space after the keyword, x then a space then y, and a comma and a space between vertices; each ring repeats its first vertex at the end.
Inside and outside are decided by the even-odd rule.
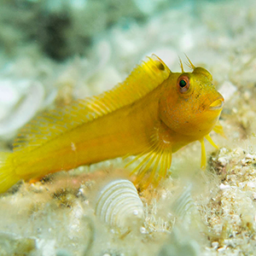
POLYGON ((160 119, 178 134, 200 139, 212 131, 224 106, 224 97, 203 67, 191 73, 172 73, 160 96, 160 119))

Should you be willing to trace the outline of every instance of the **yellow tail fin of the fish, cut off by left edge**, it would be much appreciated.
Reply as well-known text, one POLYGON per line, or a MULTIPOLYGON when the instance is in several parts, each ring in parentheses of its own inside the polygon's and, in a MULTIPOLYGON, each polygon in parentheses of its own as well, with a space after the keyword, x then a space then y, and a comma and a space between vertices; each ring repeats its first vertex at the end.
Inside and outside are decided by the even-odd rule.
POLYGON ((12 153, 0 153, 0 194, 20 180, 12 164, 12 153))

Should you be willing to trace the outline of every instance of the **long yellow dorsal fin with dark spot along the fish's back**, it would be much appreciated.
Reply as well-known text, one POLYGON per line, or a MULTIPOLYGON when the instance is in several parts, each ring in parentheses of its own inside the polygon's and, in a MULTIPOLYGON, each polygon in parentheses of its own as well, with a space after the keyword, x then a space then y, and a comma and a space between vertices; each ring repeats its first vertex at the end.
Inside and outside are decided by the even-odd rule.
POLYGON ((41 146, 81 124, 136 102, 166 80, 170 73, 170 69, 156 55, 147 57, 113 90, 73 102, 66 108, 48 111, 33 119, 15 139, 14 148, 19 150, 41 146))

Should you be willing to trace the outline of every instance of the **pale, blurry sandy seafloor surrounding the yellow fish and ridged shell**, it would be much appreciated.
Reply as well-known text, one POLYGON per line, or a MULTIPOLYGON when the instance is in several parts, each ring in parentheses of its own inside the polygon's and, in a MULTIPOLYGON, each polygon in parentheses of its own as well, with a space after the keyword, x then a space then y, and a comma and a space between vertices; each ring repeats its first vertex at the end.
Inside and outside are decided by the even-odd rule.
POLYGON ((200 143, 174 154, 172 175, 139 194, 144 216, 122 227, 95 208, 104 183, 129 178, 124 160, 19 183, 0 197, 0 255, 256 255, 255 1, 110 2, 0 2, 1 150, 38 111, 112 88, 152 53, 179 71, 184 52, 212 73, 226 138, 212 132, 206 172, 200 143))

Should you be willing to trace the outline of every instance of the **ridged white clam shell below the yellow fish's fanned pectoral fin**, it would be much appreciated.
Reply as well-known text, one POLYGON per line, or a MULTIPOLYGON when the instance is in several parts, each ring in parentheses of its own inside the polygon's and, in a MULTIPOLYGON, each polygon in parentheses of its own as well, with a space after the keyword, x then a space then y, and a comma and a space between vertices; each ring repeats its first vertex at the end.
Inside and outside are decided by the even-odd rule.
POLYGON ((143 202, 129 180, 108 183, 96 202, 96 216, 110 225, 127 228, 143 218, 143 202))

